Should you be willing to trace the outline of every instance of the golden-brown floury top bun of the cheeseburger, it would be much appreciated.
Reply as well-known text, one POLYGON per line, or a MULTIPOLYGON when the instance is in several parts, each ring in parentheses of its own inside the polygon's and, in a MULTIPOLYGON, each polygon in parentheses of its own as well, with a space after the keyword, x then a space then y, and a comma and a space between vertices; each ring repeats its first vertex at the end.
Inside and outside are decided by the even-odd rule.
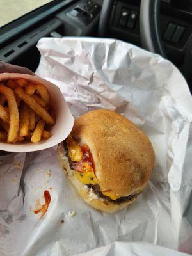
POLYGON ((90 148, 100 188, 116 196, 140 192, 154 168, 148 137, 124 116, 99 109, 77 118, 72 138, 90 148))

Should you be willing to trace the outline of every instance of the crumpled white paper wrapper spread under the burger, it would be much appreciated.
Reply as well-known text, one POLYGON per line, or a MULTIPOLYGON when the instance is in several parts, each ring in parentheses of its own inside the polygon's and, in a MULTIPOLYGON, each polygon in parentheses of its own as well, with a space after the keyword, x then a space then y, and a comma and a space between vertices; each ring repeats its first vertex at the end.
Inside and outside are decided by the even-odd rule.
POLYGON ((160 250, 153 244, 192 253, 192 99, 184 77, 169 61, 118 40, 43 38, 37 46, 36 74, 61 88, 72 114, 107 108, 126 116, 152 141, 156 165, 136 202, 107 214, 79 197, 56 147, 0 157, 0 254, 148 255, 140 252, 160 250), (34 211, 45 190, 51 203, 41 218, 34 211))

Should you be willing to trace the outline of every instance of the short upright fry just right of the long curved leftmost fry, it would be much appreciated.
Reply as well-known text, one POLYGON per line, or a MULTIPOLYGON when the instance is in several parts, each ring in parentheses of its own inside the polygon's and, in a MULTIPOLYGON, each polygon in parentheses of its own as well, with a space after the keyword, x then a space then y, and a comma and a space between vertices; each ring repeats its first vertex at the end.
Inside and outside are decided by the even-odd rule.
POLYGON ((19 125, 19 134, 21 136, 26 136, 29 131, 29 108, 28 106, 22 102, 20 106, 20 125, 19 125))

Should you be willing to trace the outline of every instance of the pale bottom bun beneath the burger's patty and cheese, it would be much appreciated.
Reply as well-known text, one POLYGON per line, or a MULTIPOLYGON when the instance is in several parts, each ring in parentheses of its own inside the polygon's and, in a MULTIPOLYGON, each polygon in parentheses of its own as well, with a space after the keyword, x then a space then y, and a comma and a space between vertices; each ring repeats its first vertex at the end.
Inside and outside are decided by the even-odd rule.
POLYGON ((95 195, 92 189, 88 188, 88 186, 82 184, 81 182, 79 182, 79 180, 77 180, 76 175, 74 175, 75 171, 70 169, 68 157, 65 156, 65 149, 63 147, 63 143, 60 143, 60 145, 58 145, 57 156, 62 170, 65 172, 65 174, 67 174, 68 179, 70 179, 74 187, 77 189, 79 195, 81 195, 83 200, 87 204, 91 205, 93 208, 108 213, 114 213, 116 211, 119 211, 120 209, 123 209, 129 204, 132 204, 132 202, 136 200, 136 197, 134 197, 131 198, 131 200, 116 204, 99 198, 97 195, 95 195))

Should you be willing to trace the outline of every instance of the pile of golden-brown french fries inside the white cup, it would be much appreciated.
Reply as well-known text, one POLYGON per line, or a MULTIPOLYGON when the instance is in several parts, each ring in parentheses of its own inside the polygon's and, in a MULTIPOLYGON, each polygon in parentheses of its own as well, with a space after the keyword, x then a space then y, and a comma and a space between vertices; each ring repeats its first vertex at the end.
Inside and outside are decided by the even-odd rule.
POLYGON ((0 82, 0 140, 8 143, 48 139, 54 125, 47 88, 26 79, 0 82))

